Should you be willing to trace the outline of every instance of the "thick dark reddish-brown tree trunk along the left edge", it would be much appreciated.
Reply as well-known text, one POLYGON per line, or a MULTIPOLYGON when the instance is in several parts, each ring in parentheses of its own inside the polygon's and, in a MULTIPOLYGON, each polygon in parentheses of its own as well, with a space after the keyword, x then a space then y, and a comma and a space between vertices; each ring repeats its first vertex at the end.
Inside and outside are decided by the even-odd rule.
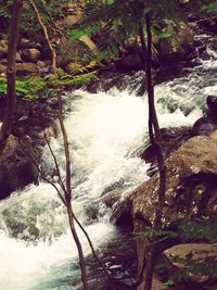
POLYGON ((16 51, 18 42, 18 27, 22 14, 22 0, 15 0, 13 3, 13 12, 11 25, 9 29, 9 47, 8 47, 8 67, 7 67, 7 104, 3 117, 3 124, 0 129, 0 155, 5 147, 7 139, 11 133, 14 112, 16 109, 16 51))

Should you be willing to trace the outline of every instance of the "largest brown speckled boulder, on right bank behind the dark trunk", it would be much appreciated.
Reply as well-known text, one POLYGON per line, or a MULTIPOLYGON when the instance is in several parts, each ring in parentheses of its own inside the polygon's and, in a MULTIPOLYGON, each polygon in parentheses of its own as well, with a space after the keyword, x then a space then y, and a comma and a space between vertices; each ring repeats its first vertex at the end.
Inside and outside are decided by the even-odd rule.
MULTIPOLYGON (((216 139, 206 136, 189 139, 167 159, 166 167, 165 226, 187 216, 217 215, 216 139)), ((154 220, 157 185, 158 174, 155 174, 130 197, 132 216, 142 216, 149 225, 154 220)))

